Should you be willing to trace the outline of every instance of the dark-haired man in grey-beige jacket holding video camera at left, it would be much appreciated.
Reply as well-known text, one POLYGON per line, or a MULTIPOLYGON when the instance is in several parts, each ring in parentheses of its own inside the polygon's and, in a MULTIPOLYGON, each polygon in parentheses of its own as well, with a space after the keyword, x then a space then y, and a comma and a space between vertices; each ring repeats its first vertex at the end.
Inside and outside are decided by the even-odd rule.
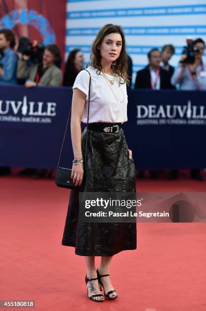
POLYGON ((55 44, 45 47, 43 61, 39 64, 29 64, 30 56, 19 53, 17 77, 28 79, 25 82, 27 88, 42 86, 60 86, 63 75, 61 70, 55 65, 55 61, 60 59, 61 53, 55 44))

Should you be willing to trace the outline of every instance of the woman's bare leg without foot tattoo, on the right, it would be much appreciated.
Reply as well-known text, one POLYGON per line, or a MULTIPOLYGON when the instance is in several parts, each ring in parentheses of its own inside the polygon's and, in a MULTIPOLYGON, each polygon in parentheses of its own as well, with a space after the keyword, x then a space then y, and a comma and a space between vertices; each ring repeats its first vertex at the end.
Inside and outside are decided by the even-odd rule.
MULTIPOLYGON (((101 256, 101 263, 98 268, 100 274, 109 274, 112 257, 113 256, 101 256)), ((104 286, 105 294, 114 289, 110 281, 110 276, 103 276, 100 278, 100 280, 104 286)), ((117 293, 115 292, 109 295, 109 297, 111 298, 114 298, 116 296, 117 293)))

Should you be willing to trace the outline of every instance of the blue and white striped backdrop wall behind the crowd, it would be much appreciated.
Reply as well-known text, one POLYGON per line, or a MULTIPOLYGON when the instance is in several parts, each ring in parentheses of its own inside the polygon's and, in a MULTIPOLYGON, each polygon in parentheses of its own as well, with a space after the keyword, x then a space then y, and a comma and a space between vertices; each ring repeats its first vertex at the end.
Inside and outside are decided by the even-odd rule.
MULTIPOLYGON (((170 64, 177 66, 186 38, 206 41, 206 0, 67 0, 66 12, 66 59, 79 48, 85 67, 100 28, 107 23, 122 26, 133 61, 132 87, 137 71, 148 64, 149 50, 173 44, 170 64)), ((205 63, 205 53, 203 60, 205 63)))

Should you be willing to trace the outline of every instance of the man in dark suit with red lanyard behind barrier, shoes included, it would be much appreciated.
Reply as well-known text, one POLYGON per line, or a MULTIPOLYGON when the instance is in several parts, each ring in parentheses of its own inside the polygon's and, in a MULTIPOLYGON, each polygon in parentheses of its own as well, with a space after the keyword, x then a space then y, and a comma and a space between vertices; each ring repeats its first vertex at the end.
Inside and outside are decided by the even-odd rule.
MULTIPOLYGON (((160 67, 161 53, 152 49, 148 53, 149 65, 137 72, 135 88, 172 89, 170 74, 160 67)), ((150 178, 157 178, 157 171, 149 171, 150 178)), ((137 177, 144 177, 144 170, 140 170, 137 177)))

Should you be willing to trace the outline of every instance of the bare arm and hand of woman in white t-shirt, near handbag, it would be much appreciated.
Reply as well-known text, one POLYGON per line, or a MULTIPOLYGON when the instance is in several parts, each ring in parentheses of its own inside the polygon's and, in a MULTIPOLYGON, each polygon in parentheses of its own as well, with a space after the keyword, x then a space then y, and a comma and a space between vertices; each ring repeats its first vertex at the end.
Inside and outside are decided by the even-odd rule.
MULTIPOLYGON (((81 118, 85 109, 86 94, 78 88, 73 89, 72 108, 71 108, 71 141, 74 159, 82 159, 81 152, 81 118)), ((72 165, 71 178, 75 185, 80 185, 83 180, 83 163, 72 165)))

